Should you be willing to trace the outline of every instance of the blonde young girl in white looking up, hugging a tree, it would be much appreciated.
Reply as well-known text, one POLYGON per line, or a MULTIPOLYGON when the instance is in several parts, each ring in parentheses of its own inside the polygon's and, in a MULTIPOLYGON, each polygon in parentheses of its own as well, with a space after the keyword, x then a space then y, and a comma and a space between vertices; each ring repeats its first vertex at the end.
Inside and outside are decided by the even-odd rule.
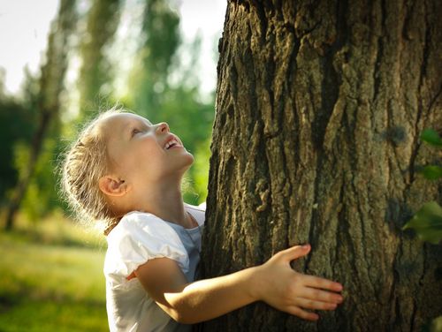
POLYGON ((342 286, 296 273, 293 246, 261 266, 194 282, 204 210, 183 202, 194 157, 167 124, 110 110, 81 132, 65 156, 63 185, 81 217, 106 221, 104 262, 111 331, 188 331, 255 301, 315 321, 342 286))

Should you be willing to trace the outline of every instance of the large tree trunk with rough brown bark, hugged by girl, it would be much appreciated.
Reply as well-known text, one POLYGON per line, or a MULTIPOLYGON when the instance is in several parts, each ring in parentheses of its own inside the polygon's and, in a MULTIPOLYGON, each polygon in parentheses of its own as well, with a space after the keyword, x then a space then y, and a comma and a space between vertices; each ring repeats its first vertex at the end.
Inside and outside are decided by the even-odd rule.
MULTIPOLYGON (((420 330, 442 313, 442 247, 401 226, 442 198, 418 168, 442 128, 438 0, 230 1, 219 43, 202 275, 310 243, 303 273, 345 302, 301 321, 256 304, 208 331, 420 330)), ((276 283, 278 281, 275 281, 276 283)))

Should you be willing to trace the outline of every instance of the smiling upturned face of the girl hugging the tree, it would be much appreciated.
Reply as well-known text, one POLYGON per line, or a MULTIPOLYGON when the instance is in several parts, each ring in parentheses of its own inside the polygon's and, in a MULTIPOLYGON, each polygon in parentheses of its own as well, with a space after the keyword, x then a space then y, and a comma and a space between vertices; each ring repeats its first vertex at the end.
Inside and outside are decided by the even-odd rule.
POLYGON ((165 123, 151 124, 144 117, 121 113, 104 119, 103 130, 110 170, 126 185, 180 179, 194 162, 194 157, 165 123))

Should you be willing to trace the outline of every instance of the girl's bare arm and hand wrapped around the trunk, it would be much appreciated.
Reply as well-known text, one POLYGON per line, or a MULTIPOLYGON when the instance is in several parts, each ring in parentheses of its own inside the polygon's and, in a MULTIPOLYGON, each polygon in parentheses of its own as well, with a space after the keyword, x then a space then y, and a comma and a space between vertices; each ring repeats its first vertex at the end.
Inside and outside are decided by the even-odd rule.
POLYGON ((309 253, 310 246, 293 246, 255 268, 187 283, 175 260, 159 258, 141 265, 135 275, 149 296, 181 323, 208 321, 241 306, 263 300, 278 310, 316 321, 304 309, 333 310, 342 302, 339 283, 302 275, 290 261, 309 253), (329 291, 331 290, 331 291, 329 291))

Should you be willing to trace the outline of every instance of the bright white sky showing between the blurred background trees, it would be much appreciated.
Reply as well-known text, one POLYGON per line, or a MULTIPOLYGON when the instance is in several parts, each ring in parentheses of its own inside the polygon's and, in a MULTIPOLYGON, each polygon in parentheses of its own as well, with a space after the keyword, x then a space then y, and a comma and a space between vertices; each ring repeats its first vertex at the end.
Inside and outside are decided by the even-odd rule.
MULTIPOLYGON (((221 36, 227 0, 175 0, 180 13, 180 28, 185 41, 202 34, 202 85, 216 84, 213 58, 215 38, 221 36)), ((127 0, 140 4, 140 0, 127 0)), ((23 79, 23 68, 38 72, 46 47, 50 21, 57 14, 58 0, 0 0, 0 67, 5 70, 5 88, 16 94, 23 79)), ((124 34, 124 32, 123 32, 124 34)))

